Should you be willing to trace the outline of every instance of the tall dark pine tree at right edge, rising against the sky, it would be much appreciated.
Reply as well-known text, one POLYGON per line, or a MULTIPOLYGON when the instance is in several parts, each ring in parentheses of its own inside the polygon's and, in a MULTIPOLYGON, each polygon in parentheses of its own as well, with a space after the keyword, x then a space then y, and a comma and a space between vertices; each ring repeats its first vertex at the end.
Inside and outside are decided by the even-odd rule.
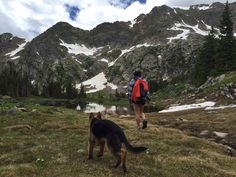
POLYGON ((235 65, 235 40, 233 36, 233 22, 231 20, 231 12, 229 3, 226 2, 222 19, 220 21, 220 40, 218 46, 218 53, 216 56, 216 74, 222 74, 227 71, 236 69, 235 65))

